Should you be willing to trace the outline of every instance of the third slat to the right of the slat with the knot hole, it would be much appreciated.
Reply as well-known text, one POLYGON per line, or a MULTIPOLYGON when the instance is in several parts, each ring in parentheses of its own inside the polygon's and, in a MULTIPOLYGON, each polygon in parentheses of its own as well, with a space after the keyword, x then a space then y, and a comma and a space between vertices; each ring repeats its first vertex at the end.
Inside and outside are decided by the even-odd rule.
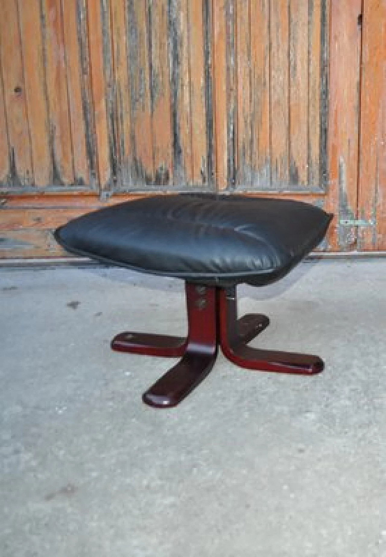
POLYGON ((90 171, 89 164, 87 163, 86 128, 82 108, 77 0, 62 0, 62 13, 66 48, 71 141, 74 156, 74 181, 76 184, 84 185, 90 183, 90 171))

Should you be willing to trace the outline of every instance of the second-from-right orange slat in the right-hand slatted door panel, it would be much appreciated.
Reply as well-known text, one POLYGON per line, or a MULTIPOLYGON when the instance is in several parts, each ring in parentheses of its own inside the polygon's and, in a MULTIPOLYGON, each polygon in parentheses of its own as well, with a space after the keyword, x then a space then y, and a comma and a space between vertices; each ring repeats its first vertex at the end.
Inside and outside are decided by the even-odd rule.
MULTIPOLYGON (((309 91, 309 6, 305 0, 290 2, 289 51, 289 182, 307 186, 308 91, 309 91)), ((320 25, 320 22, 319 22, 320 25)), ((317 76, 319 84, 319 76, 317 76)), ((273 118, 275 116, 273 115, 273 118)))

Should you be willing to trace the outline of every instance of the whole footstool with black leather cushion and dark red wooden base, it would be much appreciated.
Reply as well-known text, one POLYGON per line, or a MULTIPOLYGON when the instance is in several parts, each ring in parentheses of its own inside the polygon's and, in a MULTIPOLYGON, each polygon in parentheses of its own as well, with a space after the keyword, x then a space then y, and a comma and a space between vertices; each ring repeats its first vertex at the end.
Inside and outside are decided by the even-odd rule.
POLYGON ((188 335, 126 331, 111 348, 180 357, 143 394, 172 407, 211 371, 218 346, 242 368, 311 375, 323 361, 306 354, 252 348, 267 316, 237 319, 236 286, 264 286, 284 277, 326 233, 333 216, 307 203, 216 194, 154 196, 76 218, 55 231, 67 251, 136 271, 185 281, 188 335))

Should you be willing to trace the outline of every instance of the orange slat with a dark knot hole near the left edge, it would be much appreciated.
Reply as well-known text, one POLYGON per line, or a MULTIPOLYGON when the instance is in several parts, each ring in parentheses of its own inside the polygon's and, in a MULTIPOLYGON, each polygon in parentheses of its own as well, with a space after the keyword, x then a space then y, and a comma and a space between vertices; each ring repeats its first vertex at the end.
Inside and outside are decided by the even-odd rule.
POLYGON ((13 185, 31 185, 33 167, 17 0, 3 0, 0 50, 13 185))

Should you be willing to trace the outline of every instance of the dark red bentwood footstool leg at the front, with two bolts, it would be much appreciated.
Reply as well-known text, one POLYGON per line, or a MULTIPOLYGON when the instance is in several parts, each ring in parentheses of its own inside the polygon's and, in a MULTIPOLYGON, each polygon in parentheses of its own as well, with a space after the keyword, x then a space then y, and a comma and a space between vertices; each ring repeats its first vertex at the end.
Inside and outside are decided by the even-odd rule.
POLYGON ((216 288, 185 283, 188 339, 177 365, 143 394, 143 402, 156 408, 177 405, 202 382, 217 358, 216 288))

